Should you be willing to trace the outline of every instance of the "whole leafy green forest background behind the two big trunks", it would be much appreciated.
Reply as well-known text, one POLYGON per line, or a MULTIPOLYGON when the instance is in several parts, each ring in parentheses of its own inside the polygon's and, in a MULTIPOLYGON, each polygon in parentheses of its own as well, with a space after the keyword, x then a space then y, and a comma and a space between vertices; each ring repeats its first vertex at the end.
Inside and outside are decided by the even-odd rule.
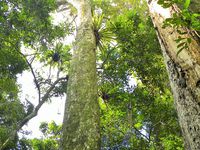
MULTIPOLYGON (((185 26, 198 34, 200 3, 159 3, 163 7, 176 3, 181 9, 165 26, 185 26)), ((59 148, 62 125, 42 122, 43 138, 34 139, 28 139, 28 132, 22 127, 45 102, 66 94, 73 43, 65 41, 76 32, 76 15, 77 10, 62 1, 0 1, 0 149, 59 148), (53 24, 55 10, 67 10, 69 19, 53 24), (35 64, 48 69, 44 73, 35 64), (36 105, 32 99, 20 97, 23 91, 17 78, 24 71, 31 72, 34 78, 36 105)), ((93 0, 92 15, 101 149, 184 149, 168 74, 146 1, 93 0)), ((188 44, 190 39, 179 44, 179 52, 188 44)))

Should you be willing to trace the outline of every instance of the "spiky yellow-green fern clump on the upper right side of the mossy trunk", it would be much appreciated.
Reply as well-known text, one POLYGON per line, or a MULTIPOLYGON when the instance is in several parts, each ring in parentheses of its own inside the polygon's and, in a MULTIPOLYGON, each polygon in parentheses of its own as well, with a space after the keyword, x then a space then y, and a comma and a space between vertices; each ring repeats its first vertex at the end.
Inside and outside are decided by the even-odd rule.
POLYGON ((106 27, 106 19, 104 15, 93 14, 93 29, 96 39, 97 49, 102 51, 112 40, 115 39, 114 34, 106 27))

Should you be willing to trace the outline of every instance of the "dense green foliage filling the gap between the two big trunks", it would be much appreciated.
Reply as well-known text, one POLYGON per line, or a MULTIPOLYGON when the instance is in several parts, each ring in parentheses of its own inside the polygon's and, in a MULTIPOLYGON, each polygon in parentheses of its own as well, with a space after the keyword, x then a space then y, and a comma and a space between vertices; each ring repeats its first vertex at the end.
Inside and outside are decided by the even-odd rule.
POLYGON ((129 10, 110 28, 118 45, 107 49, 108 58, 100 54, 106 59, 100 74, 104 149, 183 149, 150 18, 129 10))

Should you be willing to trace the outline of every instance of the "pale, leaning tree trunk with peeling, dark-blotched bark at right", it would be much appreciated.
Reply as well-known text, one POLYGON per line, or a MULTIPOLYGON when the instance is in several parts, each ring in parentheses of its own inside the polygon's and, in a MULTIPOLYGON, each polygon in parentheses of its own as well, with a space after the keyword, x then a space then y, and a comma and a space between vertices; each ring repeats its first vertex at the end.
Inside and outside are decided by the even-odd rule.
POLYGON ((185 148, 200 150, 200 45, 188 32, 184 36, 191 38, 192 43, 177 56, 175 39, 180 35, 173 28, 162 28, 163 21, 175 12, 175 6, 164 9, 156 0, 148 1, 148 5, 163 50, 185 148))

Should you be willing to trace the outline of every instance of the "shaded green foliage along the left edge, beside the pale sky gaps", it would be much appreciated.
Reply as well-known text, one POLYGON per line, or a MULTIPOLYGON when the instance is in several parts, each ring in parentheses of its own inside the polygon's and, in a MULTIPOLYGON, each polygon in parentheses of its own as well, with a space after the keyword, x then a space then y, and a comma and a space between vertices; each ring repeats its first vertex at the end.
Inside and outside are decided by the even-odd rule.
MULTIPOLYGON (((29 55, 21 50, 22 45, 33 49, 33 62, 53 40, 67 33, 63 26, 52 24, 49 13, 56 8, 54 0, 0 1, 0 149, 29 113, 28 101, 22 103, 24 100, 19 99, 17 84, 17 74, 32 69, 29 55)), ((5 149, 16 147, 18 136, 14 136, 5 149)))

